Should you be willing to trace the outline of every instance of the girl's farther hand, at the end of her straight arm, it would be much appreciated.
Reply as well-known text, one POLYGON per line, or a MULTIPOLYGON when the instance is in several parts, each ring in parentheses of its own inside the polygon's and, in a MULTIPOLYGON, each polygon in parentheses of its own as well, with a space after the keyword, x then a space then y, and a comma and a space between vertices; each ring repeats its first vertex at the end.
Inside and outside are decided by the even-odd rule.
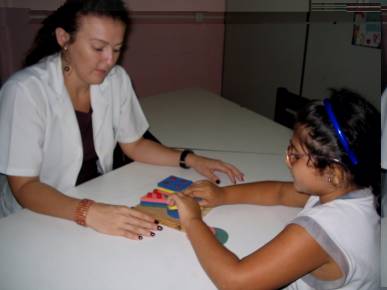
POLYGON ((201 198, 199 201, 201 206, 215 207, 225 203, 224 189, 207 180, 194 182, 183 191, 183 194, 201 198))

